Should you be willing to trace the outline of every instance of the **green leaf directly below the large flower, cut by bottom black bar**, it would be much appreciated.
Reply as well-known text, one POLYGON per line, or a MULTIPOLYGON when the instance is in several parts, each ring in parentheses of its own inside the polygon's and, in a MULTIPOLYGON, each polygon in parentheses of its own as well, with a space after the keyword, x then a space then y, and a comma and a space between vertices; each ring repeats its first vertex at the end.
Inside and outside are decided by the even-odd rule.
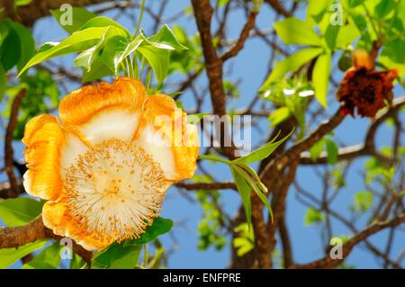
POLYGON ((125 246, 124 243, 113 243, 92 261, 93 269, 133 269, 138 264, 141 245, 125 246))

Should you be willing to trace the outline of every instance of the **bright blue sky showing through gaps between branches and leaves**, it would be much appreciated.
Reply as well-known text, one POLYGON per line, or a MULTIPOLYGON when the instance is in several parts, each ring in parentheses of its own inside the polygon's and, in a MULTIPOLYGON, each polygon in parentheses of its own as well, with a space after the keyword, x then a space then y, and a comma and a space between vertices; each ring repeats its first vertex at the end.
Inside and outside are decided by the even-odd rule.
MULTIPOLYGON (((151 1, 157 4, 157 1, 151 1)), ((171 0, 170 4, 166 8, 166 16, 175 14, 184 9, 185 6, 189 6, 190 2, 186 0, 171 0)), ((116 13, 109 13, 110 16, 116 13)), ((232 13, 229 17, 229 39, 235 39, 238 37, 238 33, 243 26, 245 19, 244 13, 232 13)), ((133 30, 131 23, 122 18, 119 20, 121 24, 133 30)), ((264 5, 257 18, 257 26, 261 29, 272 28, 272 24, 275 22, 275 15, 270 10, 268 5, 264 5)), ((189 35, 195 33, 195 22, 192 17, 181 17, 178 22, 175 22, 182 26, 189 35)), ((148 27, 152 25, 151 19, 148 14, 145 15, 142 22, 142 27, 148 31, 148 27)), ((215 27, 215 24, 213 24, 215 27)), ((57 22, 53 18, 45 18, 37 22, 34 27, 34 34, 37 43, 40 44, 49 40, 60 40, 65 32, 58 27, 57 22)), ((229 103, 229 107, 243 107, 250 102, 253 96, 257 93, 258 87, 263 83, 264 78, 268 75, 268 60, 270 53, 266 44, 258 38, 247 40, 246 47, 239 54, 238 58, 230 60, 225 65, 225 71, 227 72, 227 78, 230 80, 241 80, 239 85, 240 97, 238 100, 229 103), (228 76, 228 72, 231 72, 228 76)), ((71 66, 71 58, 62 58, 60 61, 66 63, 67 67, 71 66)), ((179 76, 174 76, 176 79, 179 76)), ((340 78, 341 75, 337 75, 336 78, 340 78)), ((207 85, 206 76, 203 75, 198 80, 200 87, 207 85)), ((69 88, 76 88, 76 86, 70 86, 69 88)), ((396 95, 403 94, 403 90, 396 89, 396 95)), ((182 96, 184 101, 184 108, 193 109, 192 96, 189 93, 185 93, 182 96)), ((337 104, 334 103, 333 91, 329 94, 329 114, 332 114, 337 109, 337 104)), ((205 101, 203 104, 203 112, 211 111, 211 105, 209 101, 205 101)), ((319 121, 324 120, 323 118, 319 121)), ((318 121, 318 119, 317 119, 318 121)), ((369 120, 366 119, 351 119, 347 118, 344 123, 336 130, 336 137, 344 140, 346 145, 360 143, 365 137, 365 131, 369 124, 369 120)), ((267 130, 268 122, 263 121, 262 129, 267 130)), ((253 139, 262 139, 263 135, 257 131, 253 133, 253 139)), ((379 146, 387 145, 391 143, 392 130, 387 126, 383 126, 377 133, 377 143, 379 146)), ((2 143, 3 144, 3 143, 2 143)), ((2 147, 0 147, 2 148, 2 147)), ((19 156, 22 156, 22 145, 15 143, 15 149, 19 156)), ((3 148, 2 148, 3 150, 3 148)), ((358 170, 362 170, 364 166, 364 159, 359 159, 356 164, 352 166, 351 172, 347 178, 347 186, 343 188, 341 194, 338 195, 336 202, 333 203, 333 208, 337 211, 341 211, 343 214, 348 214, 348 208, 353 202, 353 196, 356 192, 364 189, 362 179, 358 175, 358 170)), ((219 175, 221 180, 229 180, 231 176, 226 166, 205 164, 215 175, 219 175)), ((298 174, 302 186, 306 187, 308 191, 313 194, 320 193, 320 181, 315 175, 312 168, 303 167, 300 168, 298 174)), ((238 210, 240 200, 237 193, 232 191, 221 192, 222 205, 224 209, 230 214, 234 215, 238 210)), ((193 196, 193 193, 189 193, 193 196)), ((303 224, 306 207, 297 202, 293 193, 293 190, 289 193, 287 198, 287 225, 290 230, 290 236, 293 240, 293 256, 294 260, 298 263, 304 263, 313 259, 317 259, 321 256, 323 245, 320 242, 320 230, 316 227, 306 227, 303 224)), ((202 209, 198 203, 189 202, 180 194, 174 187, 170 188, 164 203, 162 216, 170 218, 175 221, 175 228, 170 235, 162 237, 162 241, 167 249, 175 247, 175 251, 169 258, 168 266, 171 268, 224 268, 229 263, 229 247, 225 247, 222 251, 215 251, 213 248, 207 251, 201 252, 197 249, 198 234, 197 226, 202 216, 202 209), (175 238, 175 239, 174 239, 175 238)), ((365 222, 359 222, 359 226, 363 226, 365 222)), ((350 235, 350 231, 345 227, 334 222, 333 234, 336 236, 350 235)), ((372 238, 372 242, 378 247, 383 247, 382 243, 387 237, 387 232, 381 232, 372 238)), ((229 238, 228 238, 229 239, 229 238)), ((394 240, 392 248, 392 254, 398 254, 405 246, 404 233, 401 237, 397 237, 394 240)), ((373 268, 376 266, 374 257, 369 253, 366 253, 362 248, 356 248, 356 250, 348 257, 347 264, 353 264, 357 267, 373 268)))

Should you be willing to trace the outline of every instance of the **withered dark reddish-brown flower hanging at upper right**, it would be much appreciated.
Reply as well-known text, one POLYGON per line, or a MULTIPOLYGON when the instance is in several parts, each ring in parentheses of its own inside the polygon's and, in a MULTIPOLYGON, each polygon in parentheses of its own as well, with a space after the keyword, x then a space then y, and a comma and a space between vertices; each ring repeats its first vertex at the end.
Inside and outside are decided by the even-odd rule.
POLYGON ((376 71, 374 58, 365 50, 356 50, 353 67, 346 71, 338 89, 341 111, 355 116, 357 109, 360 116, 373 118, 387 103, 392 103, 392 82, 397 76, 395 69, 376 71))

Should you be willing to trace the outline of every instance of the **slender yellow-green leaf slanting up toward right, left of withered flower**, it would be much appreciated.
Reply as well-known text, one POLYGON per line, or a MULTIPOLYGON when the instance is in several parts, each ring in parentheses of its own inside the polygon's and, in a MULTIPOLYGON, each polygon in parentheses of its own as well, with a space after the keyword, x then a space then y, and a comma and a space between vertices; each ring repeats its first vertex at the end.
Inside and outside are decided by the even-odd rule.
POLYGON ((266 79, 265 84, 260 88, 261 91, 265 91, 269 85, 274 83, 285 76, 288 72, 295 72, 304 64, 308 63, 312 58, 317 57, 323 49, 320 48, 308 48, 302 49, 290 55, 284 60, 278 62, 275 65, 272 73, 266 79))

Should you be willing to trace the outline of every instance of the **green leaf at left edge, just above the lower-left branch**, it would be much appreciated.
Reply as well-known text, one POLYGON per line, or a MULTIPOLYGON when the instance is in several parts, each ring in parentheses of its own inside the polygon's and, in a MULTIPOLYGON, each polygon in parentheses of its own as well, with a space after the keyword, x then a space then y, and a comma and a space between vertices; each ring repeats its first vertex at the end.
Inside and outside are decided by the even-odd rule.
POLYGON ((8 226, 24 225, 40 215, 42 205, 27 197, 7 199, 0 202, 0 219, 8 226))

